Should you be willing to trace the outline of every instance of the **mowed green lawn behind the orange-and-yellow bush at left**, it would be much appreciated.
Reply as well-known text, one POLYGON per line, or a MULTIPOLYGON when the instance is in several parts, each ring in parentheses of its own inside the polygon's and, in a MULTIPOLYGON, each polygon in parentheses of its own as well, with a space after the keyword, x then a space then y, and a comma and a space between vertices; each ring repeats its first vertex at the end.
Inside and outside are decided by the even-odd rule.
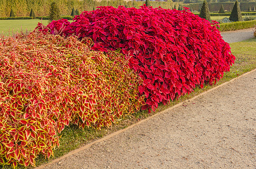
POLYGON ((23 32, 31 32, 36 28, 38 23, 47 25, 48 20, 40 19, 27 19, 27 20, 0 20, 0 34, 5 36, 10 36, 21 30, 23 32))

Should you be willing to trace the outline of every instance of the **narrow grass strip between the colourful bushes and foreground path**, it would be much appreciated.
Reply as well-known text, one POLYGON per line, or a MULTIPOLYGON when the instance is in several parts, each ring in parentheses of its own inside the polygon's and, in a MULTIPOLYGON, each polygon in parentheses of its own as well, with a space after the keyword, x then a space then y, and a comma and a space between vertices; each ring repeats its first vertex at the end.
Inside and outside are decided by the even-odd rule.
POLYGON ((204 88, 197 87, 194 89, 194 92, 189 95, 184 95, 180 97, 180 99, 171 101, 168 105, 159 104, 156 112, 151 112, 148 114, 147 111, 140 111, 133 115, 130 115, 126 118, 120 120, 118 124, 113 125, 110 128, 103 128, 101 131, 95 131, 91 128, 85 128, 84 130, 72 125, 69 127, 65 127, 65 130, 62 131, 60 144, 61 146, 54 150, 54 158, 51 157, 50 160, 44 159, 44 157, 40 156, 36 159, 37 166, 45 164, 53 159, 61 157, 69 153, 71 150, 75 150, 80 148, 83 145, 92 143, 93 141, 100 139, 106 135, 112 134, 118 130, 126 128, 131 124, 134 124, 142 119, 148 118, 153 114, 159 113, 165 109, 172 107, 182 101, 190 99, 196 95, 201 94, 204 91, 210 90, 215 86, 219 86, 222 83, 228 82, 233 78, 238 77, 238 75, 242 75, 246 72, 250 72, 253 69, 256 69, 256 38, 249 39, 242 42, 231 43, 231 51, 232 54, 236 56, 236 61, 234 65, 231 67, 230 72, 224 73, 223 78, 215 85, 212 86, 204 86, 204 88))

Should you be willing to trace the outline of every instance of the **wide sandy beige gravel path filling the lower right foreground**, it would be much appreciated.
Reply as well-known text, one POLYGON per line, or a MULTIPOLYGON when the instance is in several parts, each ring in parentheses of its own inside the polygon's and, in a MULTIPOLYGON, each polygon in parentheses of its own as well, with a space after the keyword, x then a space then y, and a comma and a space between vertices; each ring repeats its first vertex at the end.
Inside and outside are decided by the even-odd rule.
POLYGON ((82 149, 40 168, 256 168, 256 71, 82 149))

